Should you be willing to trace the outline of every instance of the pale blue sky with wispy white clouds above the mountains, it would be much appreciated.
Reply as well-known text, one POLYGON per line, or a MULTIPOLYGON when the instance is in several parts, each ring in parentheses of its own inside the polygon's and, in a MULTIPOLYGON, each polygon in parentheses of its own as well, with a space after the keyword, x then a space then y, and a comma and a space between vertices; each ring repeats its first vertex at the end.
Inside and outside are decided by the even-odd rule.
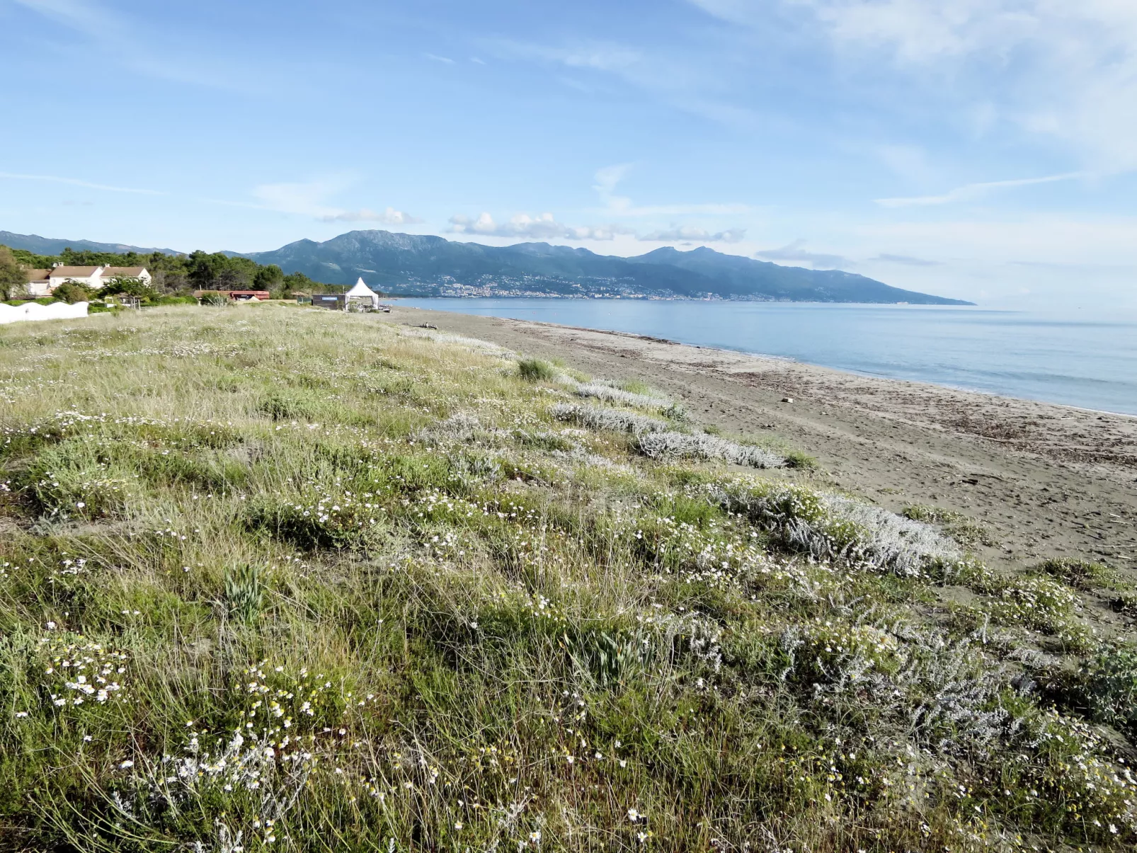
POLYGON ((704 245, 1137 307, 1134 0, 0 0, 0 32, 9 231, 704 245))

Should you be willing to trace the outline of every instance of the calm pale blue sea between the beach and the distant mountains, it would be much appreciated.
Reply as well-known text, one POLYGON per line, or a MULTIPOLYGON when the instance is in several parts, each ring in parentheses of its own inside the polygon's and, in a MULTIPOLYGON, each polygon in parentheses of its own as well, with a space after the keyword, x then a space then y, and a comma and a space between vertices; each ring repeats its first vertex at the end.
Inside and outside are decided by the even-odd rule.
POLYGON ((1137 317, 985 308, 621 299, 400 299, 792 358, 1137 415, 1137 317))

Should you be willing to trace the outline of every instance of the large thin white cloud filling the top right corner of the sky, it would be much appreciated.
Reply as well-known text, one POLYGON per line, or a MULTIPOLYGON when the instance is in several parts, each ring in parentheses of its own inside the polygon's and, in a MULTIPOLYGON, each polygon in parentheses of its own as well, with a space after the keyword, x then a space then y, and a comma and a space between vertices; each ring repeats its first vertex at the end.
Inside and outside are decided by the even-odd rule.
POLYGON ((872 86, 891 73, 926 102, 949 93, 943 103, 979 132, 1015 125, 1065 141, 1095 171, 1137 168, 1132 0, 690 2, 755 33, 780 11, 816 27, 872 86))

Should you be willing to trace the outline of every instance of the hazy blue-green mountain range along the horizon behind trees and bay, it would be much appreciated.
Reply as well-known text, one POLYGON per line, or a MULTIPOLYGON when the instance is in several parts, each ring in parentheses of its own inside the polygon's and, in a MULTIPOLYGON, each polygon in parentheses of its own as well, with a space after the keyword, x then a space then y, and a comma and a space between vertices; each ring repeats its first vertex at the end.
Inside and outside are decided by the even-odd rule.
MULTIPOLYGON (((86 240, 49 240, 0 231, 0 243, 39 254, 65 246, 96 251, 153 251, 86 240)), ((175 254, 169 249, 161 249, 175 254)), ((597 255, 549 243, 483 246, 441 237, 350 231, 324 242, 297 240, 272 251, 236 252, 315 281, 363 278, 392 296, 558 296, 761 299, 821 303, 971 305, 902 290, 856 273, 780 266, 700 247, 665 247, 636 257, 597 255)))

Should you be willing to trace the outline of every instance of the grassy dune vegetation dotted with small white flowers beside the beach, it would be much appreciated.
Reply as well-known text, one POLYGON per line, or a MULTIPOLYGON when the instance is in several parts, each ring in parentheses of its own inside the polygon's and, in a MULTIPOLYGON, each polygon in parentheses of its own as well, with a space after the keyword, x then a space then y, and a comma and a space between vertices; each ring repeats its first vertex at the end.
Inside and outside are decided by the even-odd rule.
POLYGON ((0 341, 0 847, 1137 844, 1105 566, 370 315, 0 341))

